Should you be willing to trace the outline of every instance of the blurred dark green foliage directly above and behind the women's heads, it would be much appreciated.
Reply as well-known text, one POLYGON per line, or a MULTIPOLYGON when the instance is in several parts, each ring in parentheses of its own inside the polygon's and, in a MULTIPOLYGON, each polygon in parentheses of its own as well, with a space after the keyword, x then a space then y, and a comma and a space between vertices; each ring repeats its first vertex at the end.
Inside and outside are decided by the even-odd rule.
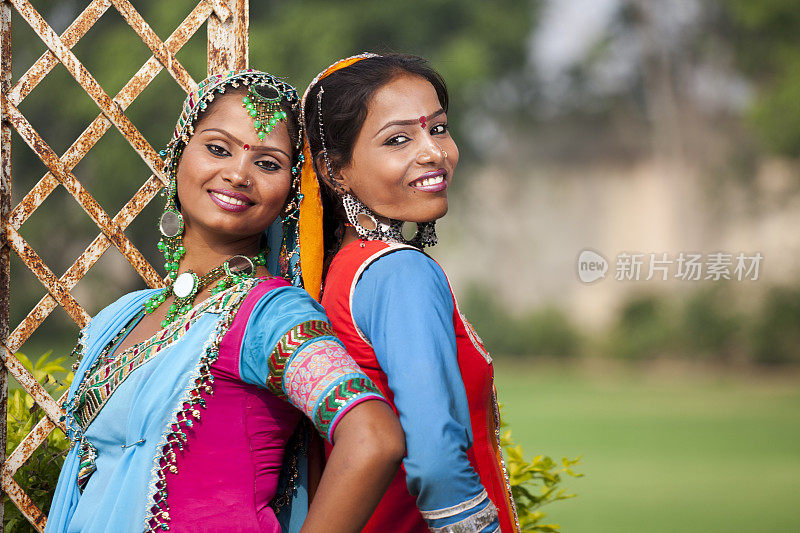
POLYGON ((539 3, 357 0, 346 8, 324 0, 251 3, 250 61, 285 74, 302 92, 325 66, 362 51, 426 57, 447 81, 450 125, 460 147, 472 155, 485 153, 470 130, 481 126, 475 117, 487 104, 519 109, 524 90, 519 85, 503 92, 510 102, 491 101, 501 98, 501 85, 517 80, 525 69, 539 3))

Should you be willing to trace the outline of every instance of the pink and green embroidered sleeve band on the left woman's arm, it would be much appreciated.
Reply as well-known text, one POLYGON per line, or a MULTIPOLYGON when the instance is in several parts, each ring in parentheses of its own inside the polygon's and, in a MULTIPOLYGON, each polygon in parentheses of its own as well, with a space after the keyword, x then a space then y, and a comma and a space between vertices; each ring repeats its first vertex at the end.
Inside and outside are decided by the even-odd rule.
POLYGON ((345 412, 365 400, 385 401, 335 337, 306 342, 284 361, 280 394, 303 411, 329 441, 345 412))

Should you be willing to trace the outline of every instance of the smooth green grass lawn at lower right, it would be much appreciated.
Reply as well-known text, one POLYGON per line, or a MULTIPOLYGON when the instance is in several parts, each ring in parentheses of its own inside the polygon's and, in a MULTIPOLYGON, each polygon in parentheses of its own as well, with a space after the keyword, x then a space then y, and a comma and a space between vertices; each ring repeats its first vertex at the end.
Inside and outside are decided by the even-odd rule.
POLYGON ((526 458, 583 456, 565 533, 800 532, 800 380, 577 372, 497 360, 526 458))

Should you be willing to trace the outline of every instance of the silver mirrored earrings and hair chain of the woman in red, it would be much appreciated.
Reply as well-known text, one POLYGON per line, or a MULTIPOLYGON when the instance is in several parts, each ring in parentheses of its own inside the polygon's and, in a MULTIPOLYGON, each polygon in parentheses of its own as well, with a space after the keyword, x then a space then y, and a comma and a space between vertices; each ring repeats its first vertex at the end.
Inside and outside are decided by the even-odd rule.
MULTIPOLYGON (((328 157, 328 147, 325 145, 325 130, 322 124, 322 87, 317 93, 317 115, 319 117, 319 137, 322 144, 322 157, 325 160, 325 168, 331 180, 333 179, 333 167, 328 157)), ((417 223, 417 230, 413 237, 407 239, 403 236, 402 220, 388 219, 389 223, 381 222, 372 210, 364 205, 361 200, 350 193, 341 195, 342 207, 344 207, 347 220, 356 230, 356 233, 368 241, 382 240, 401 244, 410 244, 417 248, 434 246, 438 242, 436 237, 436 221, 417 223)))

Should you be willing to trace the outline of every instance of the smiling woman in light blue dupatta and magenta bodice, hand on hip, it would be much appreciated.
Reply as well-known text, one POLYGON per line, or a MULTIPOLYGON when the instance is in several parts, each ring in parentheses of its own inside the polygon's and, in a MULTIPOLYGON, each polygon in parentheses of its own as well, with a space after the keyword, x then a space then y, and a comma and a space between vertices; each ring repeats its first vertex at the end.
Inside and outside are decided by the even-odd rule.
POLYGON ((298 105, 249 69, 187 97, 162 153, 170 284, 81 332, 46 531, 358 531, 369 518, 403 436, 300 288, 298 105), (310 508, 304 424, 334 443, 310 508))

